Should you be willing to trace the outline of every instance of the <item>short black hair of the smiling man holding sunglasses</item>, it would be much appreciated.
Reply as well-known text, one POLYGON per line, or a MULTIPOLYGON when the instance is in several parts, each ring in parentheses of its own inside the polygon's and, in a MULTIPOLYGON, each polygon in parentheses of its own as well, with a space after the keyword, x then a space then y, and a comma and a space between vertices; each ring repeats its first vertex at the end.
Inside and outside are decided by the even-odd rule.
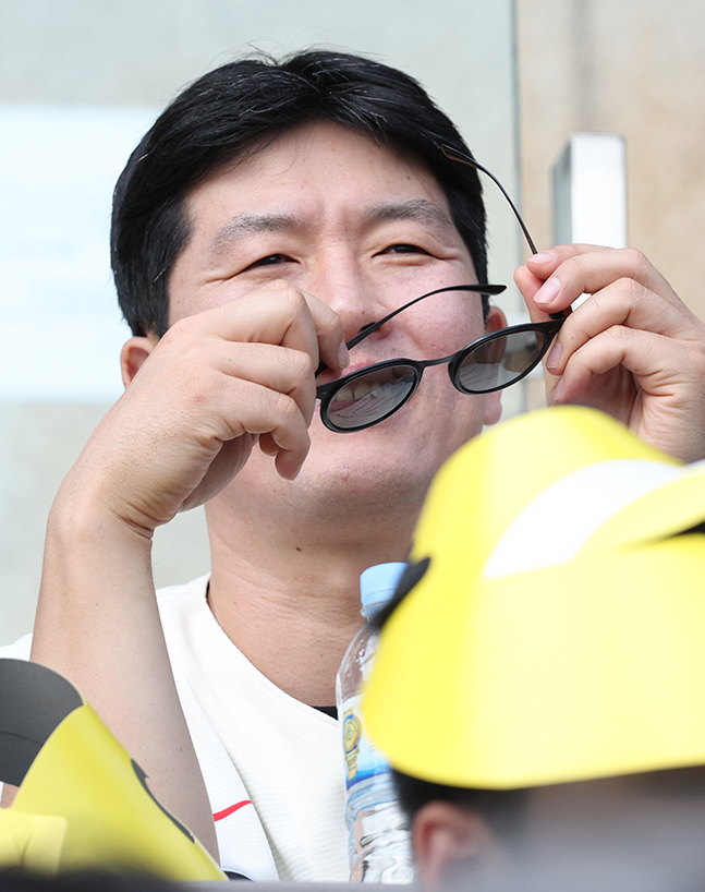
POLYGON ((412 77, 343 52, 257 56, 215 69, 184 89, 132 153, 113 196, 111 263, 133 334, 168 327, 168 282, 190 228, 189 190, 220 165, 282 132, 331 121, 412 152, 443 190, 453 221, 486 281, 485 209, 477 172, 439 145, 467 152, 460 133, 412 77))

